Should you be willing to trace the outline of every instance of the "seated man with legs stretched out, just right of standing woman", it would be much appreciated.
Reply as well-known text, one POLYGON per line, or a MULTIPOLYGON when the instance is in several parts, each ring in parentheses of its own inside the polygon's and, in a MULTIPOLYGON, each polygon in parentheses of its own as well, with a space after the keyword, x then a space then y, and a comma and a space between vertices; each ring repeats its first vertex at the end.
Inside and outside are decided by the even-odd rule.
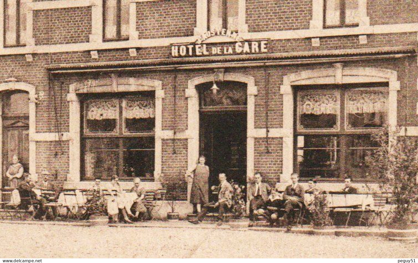
POLYGON ((199 224, 204 218, 204 216, 209 212, 209 208, 214 206, 219 207, 219 216, 217 225, 222 225, 224 214, 227 212, 232 205, 232 186, 227 182, 227 176, 225 174, 219 174, 219 193, 218 193, 218 202, 215 204, 207 203, 204 204, 203 209, 199 214, 197 214, 197 220, 189 220, 193 224, 199 224))

